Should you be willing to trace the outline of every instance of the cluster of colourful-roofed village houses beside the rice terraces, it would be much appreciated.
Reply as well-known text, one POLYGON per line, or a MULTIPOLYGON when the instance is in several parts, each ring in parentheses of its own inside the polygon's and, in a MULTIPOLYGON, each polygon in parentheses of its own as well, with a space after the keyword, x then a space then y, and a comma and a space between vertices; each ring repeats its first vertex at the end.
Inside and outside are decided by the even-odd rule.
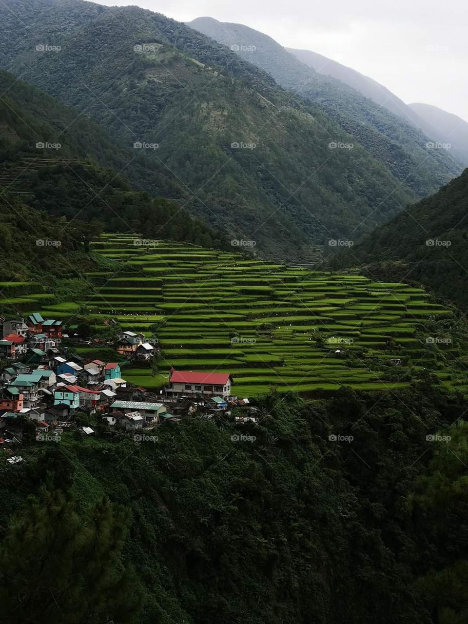
MULTIPOLYGON (((256 407, 232 394, 229 373, 172 368, 165 388, 149 391, 122 378, 118 362, 68 357, 64 344, 72 339, 62 321, 32 313, 0 323, 0 445, 11 464, 22 461, 12 449, 32 427, 37 441, 57 441, 64 431, 93 436, 97 426, 138 441, 146 431, 192 416, 222 412, 236 424, 256 422, 256 407)), ((132 331, 122 331, 114 348, 124 362, 151 359, 158 351, 132 331)))

